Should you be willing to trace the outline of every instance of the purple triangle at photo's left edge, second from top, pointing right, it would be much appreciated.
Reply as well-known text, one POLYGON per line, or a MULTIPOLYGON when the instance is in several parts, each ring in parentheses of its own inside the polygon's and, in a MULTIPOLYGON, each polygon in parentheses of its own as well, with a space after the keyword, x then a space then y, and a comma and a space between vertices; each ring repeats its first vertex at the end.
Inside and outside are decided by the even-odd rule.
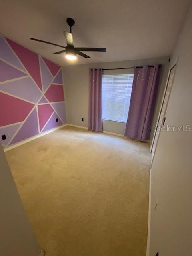
POLYGON ((13 68, 9 64, 6 64, 2 60, 0 60, 0 70, 1 70, 1 76, 0 76, 0 82, 4 82, 13 78, 18 78, 21 76, 26 76, 25 73, 21 72, 20 70, 13 68))

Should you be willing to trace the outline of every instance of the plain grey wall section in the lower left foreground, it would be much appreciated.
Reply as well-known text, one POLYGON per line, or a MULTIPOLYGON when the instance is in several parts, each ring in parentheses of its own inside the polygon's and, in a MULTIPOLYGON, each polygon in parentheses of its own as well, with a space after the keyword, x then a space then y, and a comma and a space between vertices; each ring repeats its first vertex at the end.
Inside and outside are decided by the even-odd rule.
POLYGON ((39 256, 40 248, 24 212, 0 145, 0 255, 39 256))

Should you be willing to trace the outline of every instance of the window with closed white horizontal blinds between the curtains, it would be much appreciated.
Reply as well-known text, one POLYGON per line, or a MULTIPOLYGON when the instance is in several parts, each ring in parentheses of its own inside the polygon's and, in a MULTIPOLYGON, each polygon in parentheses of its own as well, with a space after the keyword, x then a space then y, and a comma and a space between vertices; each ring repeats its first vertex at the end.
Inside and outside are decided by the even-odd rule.
MULTIPOLYGON (((114 70, 110 70, 112 71, 114 70)), ((102 119, 104 120, 127 122, 134 71, 124 70, 124 72, 131 74, 107 74, 107 72, 103 74, 102 119)))

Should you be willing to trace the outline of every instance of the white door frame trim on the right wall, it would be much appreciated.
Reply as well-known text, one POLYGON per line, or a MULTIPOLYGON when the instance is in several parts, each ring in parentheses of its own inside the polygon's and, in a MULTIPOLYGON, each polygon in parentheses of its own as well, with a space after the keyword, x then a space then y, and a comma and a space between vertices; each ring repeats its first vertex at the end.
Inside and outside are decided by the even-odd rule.
MULTIPOLYGON (((161 106, 160 106, 160 110, 159 110, 159 114, 158 114, 158 118, 157 118, 156 125, 158 125, 158 122, 159 122, 159 119, 160 119, 160 115, 161 115, 161 111, 162 111, 162 108, 163 108, 164 99, 165 99, 165 96, 166 96, 166 90, 167 90, 168 82, 169 82, 169 78, 170 78, 170 73, 171 73, 172 68, 174 68, 174 66, 175 66, 176 69, 177 69, 178 59, 179 59, 179 57, 177 57, 177 58, 176 58, 173 62, 171 62, 171 64, 170 64, 169 71, 168 71, 168 76, 167 76, 167 80, 166 80, 166 86, 165 86, 165 89, 164 89, 163 98, 162 98, 162 102, 161 102, 161 106)), ((176 72, 176 70, 175 70, 175 72, 176 72)), ((173 82, 174 82, 174 78, 173 78, 172 84, 173 84, 173 82)), ((171 94, 171 91, 172 91, 172 87, 171 87, 171 90, 170 90, 170 94, 171 94)), ((169 102, 169 99, 170 99, 170 95, 169 95, 169 98, 168 98, 168 102, 169 102)), ((167 106, 166 106, 166 110, 167 110, 167 106)), ((165 113, 166 113, 166 110, 165 110, 165 113)), ((151 146, 150 146, 150 152, 152 152, 152 148, 153 148, 153 145, 154 145, 155 136, 156 136, 156 131, 154 132, 154 135, 153 135, 153 139, 152 139, 151 146)), ((160 136, 160 134, 159 134, 159 136, 160 136)), ((159 140, 159 137, 158 137, 158 139, 157 139, 157 144, 158 144, 158 140, 159 140)), ((157 148, 157 144, 156 144, 156 148, 157 148)), ((156 148, 155 148, 155 150, 154 150, 154 155, 155 155, 155 152, 156 152, 156 148)), ((154 155, 153 155, 153 158, 154 158, 154 155)), ((153 161, 153 158, 152 158, 151 162, 153 161)))

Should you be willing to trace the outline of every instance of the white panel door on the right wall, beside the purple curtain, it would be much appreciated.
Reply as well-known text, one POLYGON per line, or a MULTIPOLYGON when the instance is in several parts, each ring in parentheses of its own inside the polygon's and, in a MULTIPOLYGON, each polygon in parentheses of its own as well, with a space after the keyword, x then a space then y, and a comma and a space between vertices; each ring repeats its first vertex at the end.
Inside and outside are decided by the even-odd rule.
POLYGON ((168 100, 169 100, 169 96, 170 96, 170 92, 171 92, 171 88, 172 88, 172 84, 173 84, 175 70, 176 70, 176 64, 170 69, 170 72, 169 72, 169 77, 168 77, 166 89, 164 92, 164 98, 162 100, 160 114, 159 114, 158 121, 156 124, 156 127, 158 127, 158 129, 155 129, 154 137, 153 137, 152 144, 151 144, 151 150, 150 150, 151 151, 151 162, 153 161, 155 149, 156 149, 159 134, 160 134, 159 128, 165 125, 165 120, 166 120, 165 114, 166 114, 167 104, 168 104, 168 100))

